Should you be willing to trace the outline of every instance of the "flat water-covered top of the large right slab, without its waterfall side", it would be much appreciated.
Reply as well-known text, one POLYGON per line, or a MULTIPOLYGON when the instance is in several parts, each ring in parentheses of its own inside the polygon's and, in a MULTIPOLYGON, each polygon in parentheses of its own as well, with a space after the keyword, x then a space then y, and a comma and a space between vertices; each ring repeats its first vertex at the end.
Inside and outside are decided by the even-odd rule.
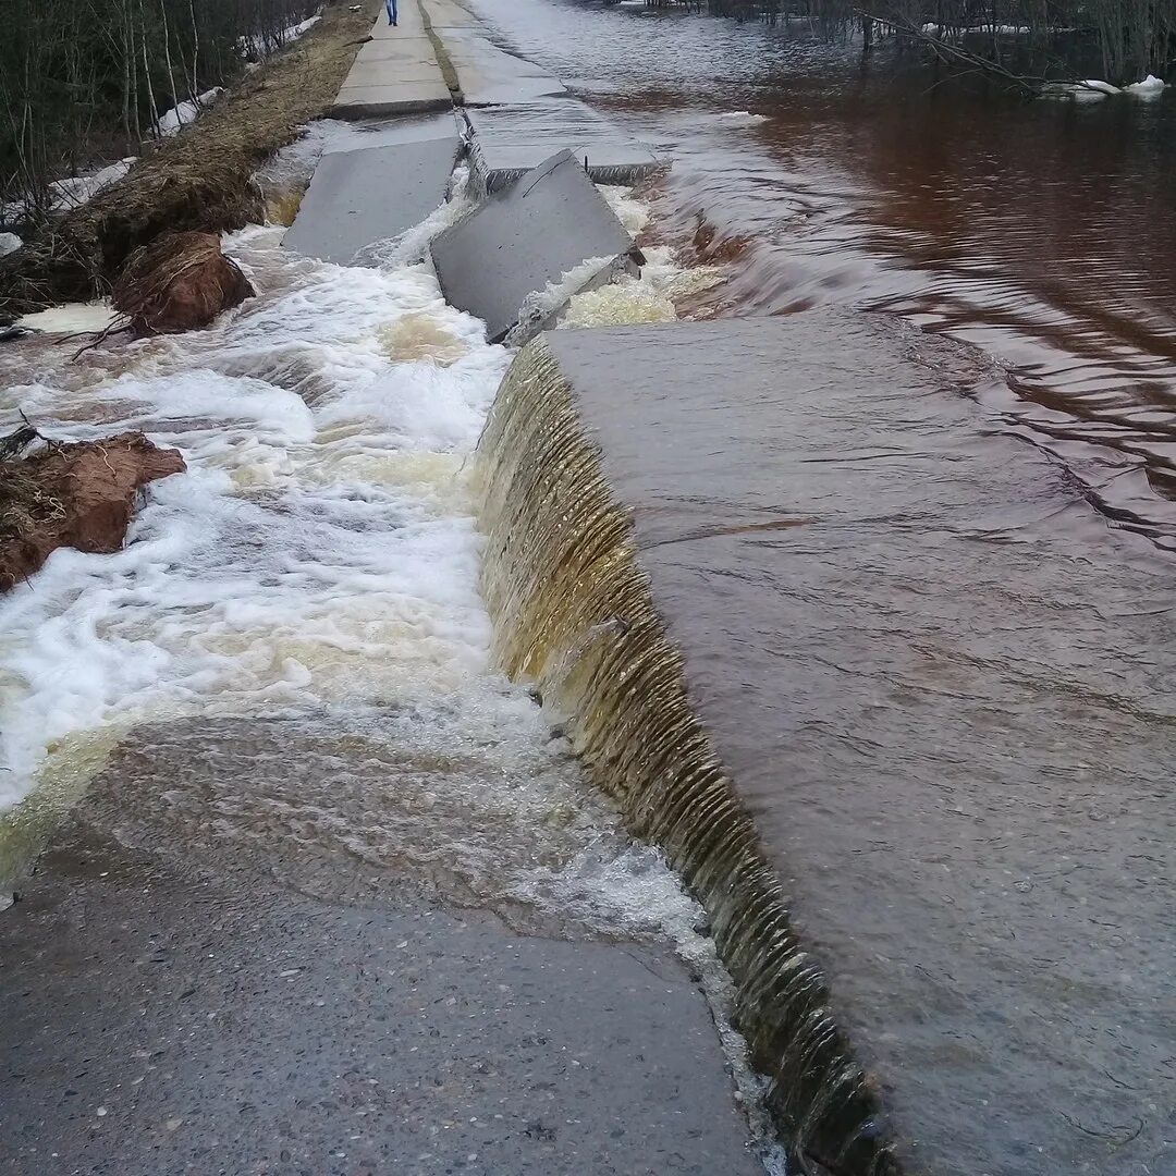
POLYGON ((1169 588, 1135 536, 884 316, 543 341, 903 1170, 1176 1172, 1172 659, 1138 607, 1169 588))

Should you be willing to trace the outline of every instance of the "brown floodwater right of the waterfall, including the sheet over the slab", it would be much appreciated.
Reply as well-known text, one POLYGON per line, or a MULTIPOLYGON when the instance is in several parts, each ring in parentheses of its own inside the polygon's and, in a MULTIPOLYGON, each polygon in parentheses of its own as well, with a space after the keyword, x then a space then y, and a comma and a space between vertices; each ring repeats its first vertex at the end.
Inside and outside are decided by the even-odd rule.
POLYGON ((479 7, 673 160, 717 314, 794 325, 569 379, 914 1170, 1174 1170, 1176 102, 479 7), (730 377, 760 346, 779 379, 730 377))

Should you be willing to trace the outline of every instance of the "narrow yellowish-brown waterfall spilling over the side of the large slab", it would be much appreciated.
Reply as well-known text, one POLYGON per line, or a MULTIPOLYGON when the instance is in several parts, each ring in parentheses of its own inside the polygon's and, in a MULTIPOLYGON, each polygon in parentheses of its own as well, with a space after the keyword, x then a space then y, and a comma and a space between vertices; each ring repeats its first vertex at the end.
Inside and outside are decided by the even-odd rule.
POLYGON ((662 847, 707 909, 739 989, 737 1027, 791 1148, 836 1172, 896 1171, 821 971, 693 713, 632 519, 543 338, 513 363, 477 454, 482 586, 503 668, 539 684, 630 831, 662 847))

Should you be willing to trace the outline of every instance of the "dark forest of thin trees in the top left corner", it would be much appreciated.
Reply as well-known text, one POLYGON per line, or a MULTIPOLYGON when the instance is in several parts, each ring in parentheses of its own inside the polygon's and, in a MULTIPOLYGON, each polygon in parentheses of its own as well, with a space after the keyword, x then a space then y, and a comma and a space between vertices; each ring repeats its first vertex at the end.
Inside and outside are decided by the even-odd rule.
POLYGON ((160 118, 280 48, 321 0, 0 0, 0 205, 36 219, 48 183, 138 155, 160 118))

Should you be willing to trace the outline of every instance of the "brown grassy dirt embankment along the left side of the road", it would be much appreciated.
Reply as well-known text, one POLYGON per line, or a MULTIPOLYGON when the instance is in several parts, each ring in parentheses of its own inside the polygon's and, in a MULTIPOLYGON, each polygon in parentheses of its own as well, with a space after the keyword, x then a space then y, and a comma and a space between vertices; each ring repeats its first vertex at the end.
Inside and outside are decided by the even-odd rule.
POLYGON ((254 172, 330 108, 380 8, 381 0, 328 4, 306 36, 192 127, 40 239, 0 259, 0 313, 28 314, 106 294, 126 259, 165 230, 220 233, 261 220, 254 172))

